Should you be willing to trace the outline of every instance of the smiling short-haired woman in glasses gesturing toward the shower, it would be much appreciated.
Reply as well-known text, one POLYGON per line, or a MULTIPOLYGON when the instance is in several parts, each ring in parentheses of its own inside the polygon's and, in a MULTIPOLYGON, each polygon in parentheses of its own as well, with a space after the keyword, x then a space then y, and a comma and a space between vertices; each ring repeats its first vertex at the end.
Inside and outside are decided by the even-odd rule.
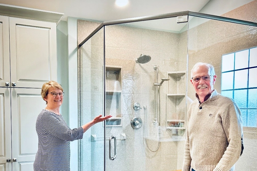
POLYGON ((70 129, 60 113, 63 95, 63 88, 55 81, 42 86, 41 96, 47 106, 36 121, 38 150, 34 171, 70 171, 70 141, 82 139, 91 126, 112 117, 99 115, 79 128, 70 129))

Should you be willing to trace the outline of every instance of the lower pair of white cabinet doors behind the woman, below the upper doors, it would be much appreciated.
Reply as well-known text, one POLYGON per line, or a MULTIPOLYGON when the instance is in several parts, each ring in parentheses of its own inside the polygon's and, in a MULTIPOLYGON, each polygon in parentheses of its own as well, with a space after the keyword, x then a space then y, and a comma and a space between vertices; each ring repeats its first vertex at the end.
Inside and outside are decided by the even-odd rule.
POLYGON ((41 89, 0 87, 0 170, 33 171, 35 123, 45 108, 40 93, 41 89))

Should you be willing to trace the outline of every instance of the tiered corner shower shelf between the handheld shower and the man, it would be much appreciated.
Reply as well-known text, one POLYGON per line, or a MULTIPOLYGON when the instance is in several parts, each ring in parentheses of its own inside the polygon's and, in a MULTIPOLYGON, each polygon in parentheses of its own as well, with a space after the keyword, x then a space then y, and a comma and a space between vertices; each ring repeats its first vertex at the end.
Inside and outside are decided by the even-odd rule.
POLYGON ((167 72, 167 78, 166 129, 181 136, 186 127, 186 71, 167 72))

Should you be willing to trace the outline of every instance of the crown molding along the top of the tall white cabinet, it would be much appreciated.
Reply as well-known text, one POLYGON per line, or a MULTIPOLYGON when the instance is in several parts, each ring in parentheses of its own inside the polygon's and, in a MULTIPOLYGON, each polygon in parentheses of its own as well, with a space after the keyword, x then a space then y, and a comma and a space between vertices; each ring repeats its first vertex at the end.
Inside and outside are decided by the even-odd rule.
POLYGON ((47 21, 58 24, 59 21, 61 21, 61 18, 64 14, 0 3, 0 15, 23 19, 47 21))

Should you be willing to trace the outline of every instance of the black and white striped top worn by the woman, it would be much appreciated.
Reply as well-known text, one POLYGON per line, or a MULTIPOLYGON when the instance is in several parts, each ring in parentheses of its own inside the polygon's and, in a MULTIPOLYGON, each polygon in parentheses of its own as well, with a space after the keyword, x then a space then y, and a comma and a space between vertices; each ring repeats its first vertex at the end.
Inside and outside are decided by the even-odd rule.
POLYGON ((83 128, 70 129, 62 115, 43 109, 36 121, 38 150, 34 171, 70 171, 70 141, 83 138, 83 128))

